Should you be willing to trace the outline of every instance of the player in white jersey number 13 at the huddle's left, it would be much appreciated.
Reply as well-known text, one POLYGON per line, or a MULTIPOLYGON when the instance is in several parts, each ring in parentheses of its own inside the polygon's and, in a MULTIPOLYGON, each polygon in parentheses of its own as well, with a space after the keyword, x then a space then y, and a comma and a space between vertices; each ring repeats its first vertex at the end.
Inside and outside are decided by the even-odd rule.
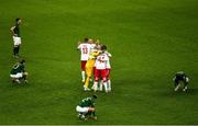
POLYGON ((84 43, 78 45, 78 49, 81 53, 80 60, 81 60, 81 81, 85 83, 86 78, 86 62, 88 60, 89 54, 91 51, 91 45, 88 43, 89 38, 85 38, 84 43))

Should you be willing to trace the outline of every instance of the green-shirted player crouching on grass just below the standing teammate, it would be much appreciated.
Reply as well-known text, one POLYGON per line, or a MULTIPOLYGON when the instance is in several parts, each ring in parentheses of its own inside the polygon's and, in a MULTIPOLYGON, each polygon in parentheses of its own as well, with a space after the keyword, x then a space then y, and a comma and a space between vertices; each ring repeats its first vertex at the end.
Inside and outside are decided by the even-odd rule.
POLYGON ((12 82, 21 83, 21 80, 24 80, 26 83, 26 77, 28 72, 25 71, 25 60, 22 59, 20 62, 16 62, 13 67, 12 70, 10 71, 10 77, 12 79, 12 82))

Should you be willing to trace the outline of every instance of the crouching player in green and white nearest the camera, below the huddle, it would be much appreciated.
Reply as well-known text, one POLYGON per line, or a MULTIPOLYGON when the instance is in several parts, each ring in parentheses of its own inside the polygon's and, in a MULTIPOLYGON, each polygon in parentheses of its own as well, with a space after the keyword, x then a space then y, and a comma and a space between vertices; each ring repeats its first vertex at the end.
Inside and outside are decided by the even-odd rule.
POLYGON ((78 112, 78 117, 80 119, 97 119, 95 99, 97 99, 97 95, 92 95, 92 98, 82 99, 80 103, 76 106, 76 111, 78 112))

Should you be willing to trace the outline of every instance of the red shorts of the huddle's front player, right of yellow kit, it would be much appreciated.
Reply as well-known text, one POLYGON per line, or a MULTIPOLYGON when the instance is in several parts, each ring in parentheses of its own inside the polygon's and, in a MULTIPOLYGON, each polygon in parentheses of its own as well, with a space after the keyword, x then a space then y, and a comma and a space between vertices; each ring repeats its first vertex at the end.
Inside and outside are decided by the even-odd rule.
POLYGON ((107 70, 106 69, 96 69, 95 70, 95 81, 98 81, 100 77, 102 78, 103 81, 107 81, 107 70))

